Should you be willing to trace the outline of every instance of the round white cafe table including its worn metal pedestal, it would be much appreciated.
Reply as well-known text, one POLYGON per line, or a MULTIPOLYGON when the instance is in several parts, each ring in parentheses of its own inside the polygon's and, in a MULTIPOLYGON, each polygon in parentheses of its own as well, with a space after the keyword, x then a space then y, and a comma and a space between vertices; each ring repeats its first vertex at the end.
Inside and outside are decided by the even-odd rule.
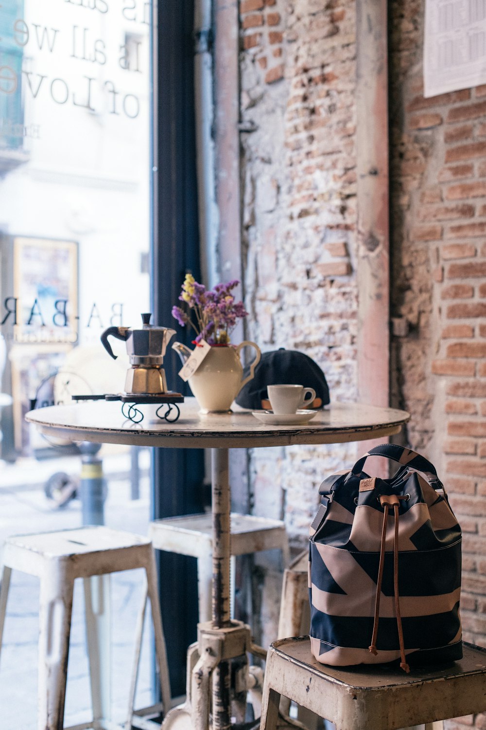
MULTIPOLYGON (((142 406, 141 410, 144 408, 142 406)), ((251 412, 200 415, 195 399, 187 398, 181 404, 181 416, 176 423, 154 422, 146 412, 144 420, 135 424, 125 419, 118 402, 107 401, 40 408, 29 412, 26 418, 43 434, 73 441, 211 449, 212 621, 197 627, 200 658, 192 670, 188 727, 209 729, 212 687, 211 730, 228 730, 235 727, 230 718, 230 662, 244 656, 251 645, 249 627, 230 620, 229 449, 379 439, 399 433, 409 414, 359 403, 334 403, 303 426, 281 426, 260 423, 251 412)), ((171 712, 164 721, 168 727, 171 727, 171 712)))

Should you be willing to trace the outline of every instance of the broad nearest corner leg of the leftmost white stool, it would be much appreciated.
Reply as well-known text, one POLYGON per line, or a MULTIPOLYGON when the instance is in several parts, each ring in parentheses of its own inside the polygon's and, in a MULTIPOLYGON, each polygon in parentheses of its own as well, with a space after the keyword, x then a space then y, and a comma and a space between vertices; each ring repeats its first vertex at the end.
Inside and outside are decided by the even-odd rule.
POLYGON ((55 564, 41 578, 39 730, 63 728, 74 580, 55 564))

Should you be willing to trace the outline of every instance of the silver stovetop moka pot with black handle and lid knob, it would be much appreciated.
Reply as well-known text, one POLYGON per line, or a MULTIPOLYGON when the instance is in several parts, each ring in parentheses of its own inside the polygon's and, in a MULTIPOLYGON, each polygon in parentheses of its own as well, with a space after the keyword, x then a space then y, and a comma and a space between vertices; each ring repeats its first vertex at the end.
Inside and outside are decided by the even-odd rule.
POLYGON ((165 350, 171 337, 176 331, 168 327, 154 327, 150 324, 152 314, 142 316, 142 328, 109 327, 101 335, 101 342, 106 352, 114 355, 109 343, 109 337, 122 339, 127 343, 127 352, 130 356, 130 368, 125 379, 125 393, 144 393, 159 396, 169 393, 165 372, 162 367, 165 350))

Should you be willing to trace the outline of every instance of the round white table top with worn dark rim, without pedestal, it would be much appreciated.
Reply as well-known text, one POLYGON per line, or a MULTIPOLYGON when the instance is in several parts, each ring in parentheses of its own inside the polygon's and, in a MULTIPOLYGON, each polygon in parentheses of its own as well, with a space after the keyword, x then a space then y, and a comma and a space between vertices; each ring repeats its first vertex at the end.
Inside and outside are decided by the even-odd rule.
MULTIPOLYGON (((409 413, 358 403, 334 403, 304 426, 269 426, 251 412, 198 413, 197 402, 180 405, 176 423, 151 420, 147 409, 141 423, 131 423, 117 401, 80 401, 28 412, 26 419, 43 434, 98 443, 171 448, 253 448, 294 444, 332 444, 363 441, 397 434, 409 413)), ((153 412, 153 411, 152 411, 153 412)))

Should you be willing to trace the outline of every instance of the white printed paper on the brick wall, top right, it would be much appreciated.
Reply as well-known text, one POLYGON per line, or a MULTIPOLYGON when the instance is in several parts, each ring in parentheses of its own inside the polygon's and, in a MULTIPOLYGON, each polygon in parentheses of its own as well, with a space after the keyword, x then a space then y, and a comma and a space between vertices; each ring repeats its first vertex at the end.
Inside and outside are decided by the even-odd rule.
POLYGON ((486 0, 426 0, 424 96, 486 83, 486 0))

